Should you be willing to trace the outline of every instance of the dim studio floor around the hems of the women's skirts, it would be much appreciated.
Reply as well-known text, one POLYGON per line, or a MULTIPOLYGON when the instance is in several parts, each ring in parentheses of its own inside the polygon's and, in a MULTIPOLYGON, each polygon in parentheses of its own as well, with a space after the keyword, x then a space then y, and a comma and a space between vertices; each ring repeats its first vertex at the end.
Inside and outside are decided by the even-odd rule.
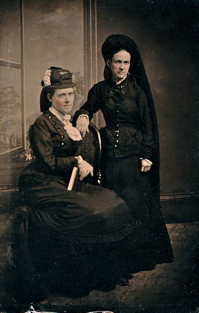
MULTIPOLYGON (((8 260, 4 238, 7 215, 0 214, 0 221, 2 272, 8 260)), ((35 310, 63 313, 100 310, 114 313, 199 313, 199 296, 196 290, 199 223, 167 224, 167 228, 175 254, 174 264, 162 264, 156 266, 155 270, 135 273, 128 287, 117 287, 109 292, 92 291, 82 298, 52 294, 46 300, 36 303, 35 310)), ((5 312, 3 298, 1 289, 1 312, 5 312)), ((13 309, 12 312, 16 311, 13 309)))

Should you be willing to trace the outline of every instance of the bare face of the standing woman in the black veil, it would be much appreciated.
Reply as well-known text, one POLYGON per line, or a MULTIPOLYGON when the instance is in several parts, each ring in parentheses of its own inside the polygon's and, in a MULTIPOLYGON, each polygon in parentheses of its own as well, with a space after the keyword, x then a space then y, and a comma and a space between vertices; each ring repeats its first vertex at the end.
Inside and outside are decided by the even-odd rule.
POLYGON ((116 81, 123 80, 129 72, 131 54, 126 50, 120 50, 112 57, 111 62, 108 61, 108 66, 111 68, 112 79, 116 81))

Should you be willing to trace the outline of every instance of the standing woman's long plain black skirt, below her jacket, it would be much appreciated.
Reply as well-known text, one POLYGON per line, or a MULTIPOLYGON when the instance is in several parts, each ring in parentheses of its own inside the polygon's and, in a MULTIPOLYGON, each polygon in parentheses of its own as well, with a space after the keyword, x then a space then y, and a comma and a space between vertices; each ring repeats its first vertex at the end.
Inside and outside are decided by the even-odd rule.
POLYGON ((141 172, 140 164, 139 156, 131 156, 104 159, 102 168, 104 185, 117 193, 129 206, 137 260, 134 260, 134 267, 138 271, 151 265, 174 262, 161 207, 150 185, 150 173, 141 172))

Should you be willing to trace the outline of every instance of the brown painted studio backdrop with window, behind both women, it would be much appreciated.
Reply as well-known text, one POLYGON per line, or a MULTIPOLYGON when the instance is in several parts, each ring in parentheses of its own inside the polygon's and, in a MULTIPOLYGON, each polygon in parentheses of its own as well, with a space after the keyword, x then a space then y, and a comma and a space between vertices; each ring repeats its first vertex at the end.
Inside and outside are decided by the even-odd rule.
MULTIPOLYGON (((18 176, 31 161, 26 134, 40 115, 44 71, 56 66, 74 73, 75 111, 104 79, 102 43, 122 33, 139 47, 155 101, 165 221, 194 220, 197 9, 195 0, 0 0, 0 213, 18 204, 18 176)), ((100 112, 93 123, 104 126, 100 112)))

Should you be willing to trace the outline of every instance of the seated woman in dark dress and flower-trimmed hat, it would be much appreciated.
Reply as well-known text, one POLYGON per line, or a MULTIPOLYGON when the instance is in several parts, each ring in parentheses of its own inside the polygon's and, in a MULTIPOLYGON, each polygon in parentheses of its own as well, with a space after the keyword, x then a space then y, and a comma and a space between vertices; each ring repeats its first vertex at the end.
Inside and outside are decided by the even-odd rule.
POLYGON ((12 264, 17 269, 15 297, 39 301, 50 292, 82 296, 93 288, 114 288, 133 264, 132 220, 113 191, 83 183, 67 190, 74 166, 80 180, 93 168, 76 156, 82 139, 72 127, 72 74, 50 67, 42 81, 41 111, 29 131, 35 160, 20 175, 26 206, 12 223, 12 264), (17 292, 17 293, 16 293, 17 292))

